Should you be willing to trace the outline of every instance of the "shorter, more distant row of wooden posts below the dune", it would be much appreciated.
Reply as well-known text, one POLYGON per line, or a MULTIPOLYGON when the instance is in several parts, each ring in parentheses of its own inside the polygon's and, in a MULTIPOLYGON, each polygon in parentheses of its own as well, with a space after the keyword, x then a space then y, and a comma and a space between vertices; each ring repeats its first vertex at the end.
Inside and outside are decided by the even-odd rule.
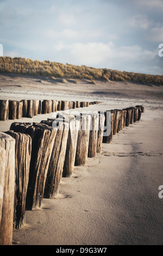
POLYGON ((14 120, 22 117, 33 118, 37 114, 48 114, 66 109, 88 107, 99 101, 58 101, 58 100, 0 100, 0 120, 14 120))

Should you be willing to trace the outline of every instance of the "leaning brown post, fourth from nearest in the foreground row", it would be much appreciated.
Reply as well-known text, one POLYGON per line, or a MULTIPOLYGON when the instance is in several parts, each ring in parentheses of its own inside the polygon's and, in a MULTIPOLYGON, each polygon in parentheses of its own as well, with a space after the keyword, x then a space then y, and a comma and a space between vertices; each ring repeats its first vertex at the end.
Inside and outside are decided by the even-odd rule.
POLYGON ((51 160, 48 166, 44 197, 52 198, 59 193, 59 185, 62 178, 66 144, 69 124, 63 121, 49 121, 49 125, 56 126, 58 123, 57 135, 55 137, 51 160))

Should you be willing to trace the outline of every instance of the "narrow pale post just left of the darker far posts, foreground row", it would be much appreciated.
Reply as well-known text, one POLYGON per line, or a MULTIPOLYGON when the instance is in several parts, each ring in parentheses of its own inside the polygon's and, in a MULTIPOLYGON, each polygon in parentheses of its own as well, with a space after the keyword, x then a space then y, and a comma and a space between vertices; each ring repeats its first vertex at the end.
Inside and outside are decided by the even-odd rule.
POLYGON ((98 117, 99 117, 99 128, 98 128, 98 135, 97 135, 97 153, 101 153, 105 115, 99 113, 98 117))

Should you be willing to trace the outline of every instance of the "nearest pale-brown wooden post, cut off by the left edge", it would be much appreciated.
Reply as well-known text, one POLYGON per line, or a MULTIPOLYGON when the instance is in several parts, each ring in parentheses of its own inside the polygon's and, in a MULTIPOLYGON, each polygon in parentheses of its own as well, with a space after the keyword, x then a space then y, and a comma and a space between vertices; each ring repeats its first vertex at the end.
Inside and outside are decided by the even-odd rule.
POLYGON ((14 218, 15 139, 3 132, 0 132, 0 147, 5 149, 2 153, 3 160, 5 154, 4 166, 1 168, 0 175, 0 245, 11 245, 14 218))

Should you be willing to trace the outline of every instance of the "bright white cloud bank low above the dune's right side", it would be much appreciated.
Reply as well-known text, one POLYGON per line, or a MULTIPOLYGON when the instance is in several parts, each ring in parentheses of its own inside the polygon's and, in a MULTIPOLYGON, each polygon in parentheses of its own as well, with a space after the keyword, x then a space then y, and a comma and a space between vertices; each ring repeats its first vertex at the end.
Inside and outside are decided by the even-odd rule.
POLYGON ((158 48, 154 51, 143 50, 140 46, 116 47, 112 41, 64 44, 59 41, 53 46, 51 56, 58 56, 63 63, 87 65, 95 68, 109 68, 117 70, 135 71, 151 74, 162 74, 161 67, 156 65, 158 48), (153 69, 152 66, 155 66, 153 69))

